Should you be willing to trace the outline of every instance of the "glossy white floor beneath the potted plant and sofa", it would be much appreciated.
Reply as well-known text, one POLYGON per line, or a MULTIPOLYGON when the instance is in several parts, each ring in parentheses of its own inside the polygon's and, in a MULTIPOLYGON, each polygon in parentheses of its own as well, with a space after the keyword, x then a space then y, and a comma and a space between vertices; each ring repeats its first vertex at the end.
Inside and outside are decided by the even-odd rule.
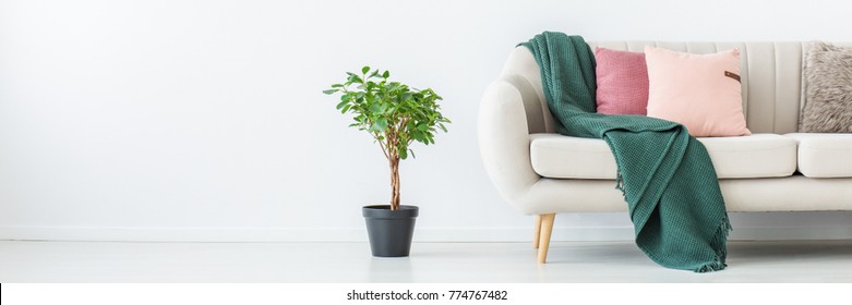
POLYGON ((729 268, 670 270, 628 242, 416 243, 373 258, 364 243, 0 242, 0 282, 852 282, 852 241, 731 242, 729 268))

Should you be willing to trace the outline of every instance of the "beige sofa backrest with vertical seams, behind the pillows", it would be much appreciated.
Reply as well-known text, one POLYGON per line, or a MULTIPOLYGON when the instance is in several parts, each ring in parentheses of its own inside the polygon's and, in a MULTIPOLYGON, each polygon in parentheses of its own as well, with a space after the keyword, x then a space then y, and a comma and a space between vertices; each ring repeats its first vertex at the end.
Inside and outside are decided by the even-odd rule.
MULTIPOLYGON (((799 130, 802 105, 802 56, 808 42, 672 42, 672 41, 588 41, 592 50, 600 46, 615 50, 641 52, 645 46, 673 51, 713 53, 740 49, 743 111, 753 133, 792 133, 799 130)), ((842 45, 842 44, 841 44, 842 45)), ((539 103, 527 109, 530 133, 553 133, 553 118, 541 88, 541 75, 536 60, 525 47, 517 47, 503 68, 504 77, 526 78, 539 96, 539 103), (529 115, 530 113, 541 113, 529 115)))

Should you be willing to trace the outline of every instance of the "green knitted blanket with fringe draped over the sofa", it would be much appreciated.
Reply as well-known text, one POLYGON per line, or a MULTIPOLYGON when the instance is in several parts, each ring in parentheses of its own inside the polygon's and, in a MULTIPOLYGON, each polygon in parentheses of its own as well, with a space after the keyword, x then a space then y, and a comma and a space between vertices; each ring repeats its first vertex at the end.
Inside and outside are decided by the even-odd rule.
POLYGON ((668 268, 724 269, 731 224, 704 145, 677 123, 595 113, 595 54, 583 37, 544 32, 521 45, 541 68, 559 132, 612 149, 639 248, 668 268))

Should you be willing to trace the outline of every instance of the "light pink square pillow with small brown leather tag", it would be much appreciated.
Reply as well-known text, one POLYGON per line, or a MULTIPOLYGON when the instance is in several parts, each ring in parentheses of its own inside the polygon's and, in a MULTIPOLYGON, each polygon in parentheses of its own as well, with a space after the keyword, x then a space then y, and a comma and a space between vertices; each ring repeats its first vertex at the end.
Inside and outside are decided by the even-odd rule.
POLYGON ((743 117, 740 50, 691 54, 645 47, 648 117, 674 121, 693 136, 751 135, 743 117))

